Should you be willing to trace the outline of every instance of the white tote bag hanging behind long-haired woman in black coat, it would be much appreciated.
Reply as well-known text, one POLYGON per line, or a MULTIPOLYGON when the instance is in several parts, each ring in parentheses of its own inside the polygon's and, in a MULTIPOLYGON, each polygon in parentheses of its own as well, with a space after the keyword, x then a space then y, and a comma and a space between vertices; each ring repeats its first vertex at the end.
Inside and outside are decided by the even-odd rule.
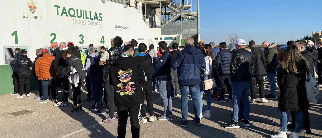
POLYGON ((306 82, 305 82, 305 88, 306 88, 306 95, 308 97, 308 101, 316 104, 317 99, 319 97, 319 86, 315 82, 315 80, 310 77, 311 74, 306 75, 306 82))

